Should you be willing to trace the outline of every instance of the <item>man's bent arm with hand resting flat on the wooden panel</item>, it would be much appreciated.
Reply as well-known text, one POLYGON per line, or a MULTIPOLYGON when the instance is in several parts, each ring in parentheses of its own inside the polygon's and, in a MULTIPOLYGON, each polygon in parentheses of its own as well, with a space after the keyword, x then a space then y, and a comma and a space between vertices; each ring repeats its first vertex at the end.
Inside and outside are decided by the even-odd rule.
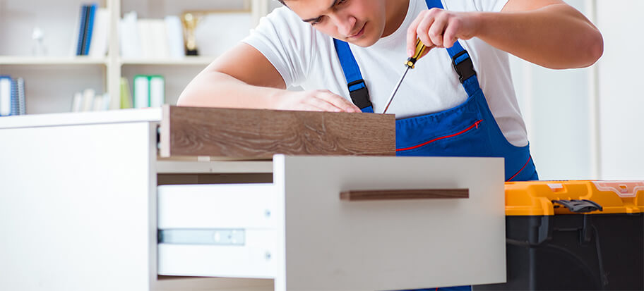
POLYGON ((327 90, 290 92, 278 70, 257 49, 241 43, 199 73, 181 93, 179 106, 304 111, 360 110, 327 90))

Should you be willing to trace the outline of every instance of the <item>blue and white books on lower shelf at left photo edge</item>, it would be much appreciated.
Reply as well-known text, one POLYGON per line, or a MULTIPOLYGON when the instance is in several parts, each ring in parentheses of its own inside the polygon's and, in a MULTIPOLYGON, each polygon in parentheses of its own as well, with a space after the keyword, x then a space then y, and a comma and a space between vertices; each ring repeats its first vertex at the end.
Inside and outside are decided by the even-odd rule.
POLYGON ((0 75, 0 116, 26 114, 25 80, 0 75))

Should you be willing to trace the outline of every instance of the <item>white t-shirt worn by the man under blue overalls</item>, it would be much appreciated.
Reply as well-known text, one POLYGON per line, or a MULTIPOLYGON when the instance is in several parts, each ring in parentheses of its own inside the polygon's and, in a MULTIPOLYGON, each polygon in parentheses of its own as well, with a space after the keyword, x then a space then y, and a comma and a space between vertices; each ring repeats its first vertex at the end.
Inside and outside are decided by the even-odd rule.
MULTIPOLYGON (((443 0, 450 11, 501 11, 508 0, 443 0)), ((407 60, 407 27, 421 11, 424 0, 410 0, 403 24, 371 47, 350 44, 362 78, 369 88, 375 112, 382 112, 407 60)), ((347 81, 333 39, 304 23, 286 7, 275 9, 243 40, 258 49, 275 66, 287 86, 328 89, 350 99, 347 81)), ((515 146, 527 144, 525 123, 512 83, 508 54, 481 39, 459 40, 474 63, 479 83, 496 123, 515 146)), ((446 49, 432 49, 410 70, 387 113, 396 118, 419 116, 450 109, 467 99, 446 49)))

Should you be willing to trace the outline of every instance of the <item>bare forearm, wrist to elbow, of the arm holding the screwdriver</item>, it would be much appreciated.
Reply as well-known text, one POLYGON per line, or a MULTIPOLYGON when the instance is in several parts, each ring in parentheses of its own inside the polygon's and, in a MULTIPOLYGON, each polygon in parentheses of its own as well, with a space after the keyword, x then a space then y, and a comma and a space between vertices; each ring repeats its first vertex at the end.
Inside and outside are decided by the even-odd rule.
POLYGON ((600 32, 566 4, 534 11, 477 13, 475 37, 547 68, 583 68, 603 54, 600 32))

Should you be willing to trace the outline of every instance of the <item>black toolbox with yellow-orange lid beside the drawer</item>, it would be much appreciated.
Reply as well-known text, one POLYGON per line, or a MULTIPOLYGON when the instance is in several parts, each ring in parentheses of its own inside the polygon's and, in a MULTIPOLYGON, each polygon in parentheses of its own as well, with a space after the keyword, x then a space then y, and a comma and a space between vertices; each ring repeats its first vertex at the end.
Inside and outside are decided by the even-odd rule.
POLYGON ((507 283, 644 290, 644 181, 506 182, 507 283))

